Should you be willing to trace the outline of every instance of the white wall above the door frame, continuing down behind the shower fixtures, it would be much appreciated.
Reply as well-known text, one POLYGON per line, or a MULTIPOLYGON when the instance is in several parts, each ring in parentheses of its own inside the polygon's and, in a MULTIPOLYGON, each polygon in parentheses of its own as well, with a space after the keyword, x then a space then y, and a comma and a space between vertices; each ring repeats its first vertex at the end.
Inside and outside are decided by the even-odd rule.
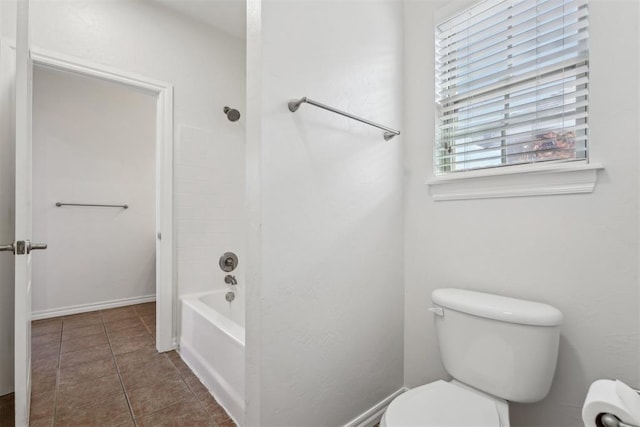
POLYGON ((245 119, 229 122, 222 109, 244 113, 244 41, 149 1, 35 0, 31 17, 36 47, 174 85, 178 286, 226 287, 218 257, 244 245, 237 230, 220 227, 243 214, 245 119), (183 126, 201 132, 183 141, 183 126), (197 167, 191 159, 199 159, 197 167), (239 178, 227 180, 229 171, 239 178), (237 195, 231 204, 229 194, 237 195))

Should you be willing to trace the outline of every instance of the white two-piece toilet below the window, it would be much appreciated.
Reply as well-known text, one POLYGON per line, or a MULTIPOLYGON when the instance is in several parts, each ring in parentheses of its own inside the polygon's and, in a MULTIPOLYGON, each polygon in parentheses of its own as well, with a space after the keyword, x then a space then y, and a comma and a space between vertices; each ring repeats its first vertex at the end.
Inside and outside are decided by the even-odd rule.
POLYGON ((509 427, 509 402, 544 399, 558 359, 558 309, 452 288, 431 299, 440 356, 453 379, 396 397, 381 427, 509 427))

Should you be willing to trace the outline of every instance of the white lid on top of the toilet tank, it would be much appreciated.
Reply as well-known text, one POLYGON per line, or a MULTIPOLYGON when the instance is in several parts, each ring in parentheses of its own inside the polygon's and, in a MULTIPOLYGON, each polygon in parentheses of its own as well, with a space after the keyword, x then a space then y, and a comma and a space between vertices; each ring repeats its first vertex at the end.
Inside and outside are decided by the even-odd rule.
POLYGON ((534 326, 556 326, 562 323, 557 308, 540 302, 526 301, 465 289, 436 289, 431 300, 445 308, 474 316, 534 326))

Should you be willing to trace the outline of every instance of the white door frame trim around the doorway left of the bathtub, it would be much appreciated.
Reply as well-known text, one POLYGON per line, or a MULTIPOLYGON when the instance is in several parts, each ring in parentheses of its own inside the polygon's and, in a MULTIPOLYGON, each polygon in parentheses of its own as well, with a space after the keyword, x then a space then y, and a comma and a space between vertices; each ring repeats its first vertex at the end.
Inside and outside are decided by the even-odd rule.
POLYGON ((98 78, 156 95, 156 348, 177 347, 174 239, 173 85, 84 59, 32 47, 34 66, 98 78))

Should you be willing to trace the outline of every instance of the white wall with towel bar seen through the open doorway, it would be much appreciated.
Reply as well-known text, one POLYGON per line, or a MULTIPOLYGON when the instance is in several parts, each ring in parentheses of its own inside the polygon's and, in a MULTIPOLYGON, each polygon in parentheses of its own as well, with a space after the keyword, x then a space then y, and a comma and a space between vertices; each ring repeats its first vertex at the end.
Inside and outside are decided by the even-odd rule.
POLYGON ((35 68, 33 238, 48 244, 33 263, 35 313, 155 295, 156 102, 35 68))

